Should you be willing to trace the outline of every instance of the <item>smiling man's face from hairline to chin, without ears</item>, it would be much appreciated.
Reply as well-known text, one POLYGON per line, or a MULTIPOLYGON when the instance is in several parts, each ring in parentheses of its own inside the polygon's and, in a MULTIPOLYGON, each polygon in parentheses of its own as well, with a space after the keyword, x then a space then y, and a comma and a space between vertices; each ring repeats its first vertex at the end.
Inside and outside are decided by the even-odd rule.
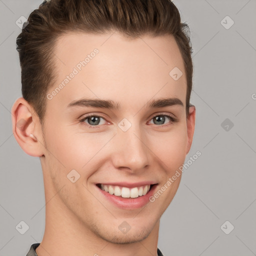
POLYGON ((155 228, 181 175, 154 201, 149 196, 166 186, 191 141, 185 70, 174 38, 110 35, 68 33, 58 38, 57 80, 47 94, 47 150, 41 164, 45 194, 49 199, 55 195, 56 211, 105 240, 126 243, 142 240, 155 228), (183 73, 177 80, 169 75, 174 67, 183 73), (148 107, 149 101, 163 98, 183 105, 176 100, 148 107), (88 106, 82 99, 111 100, 119 108, 88 106), (92 116, 84 119, 88 114, 92 116), (146 185, 151 185, 148 192, 146 185), (120 192, 135 198, 123 198, 120 192))

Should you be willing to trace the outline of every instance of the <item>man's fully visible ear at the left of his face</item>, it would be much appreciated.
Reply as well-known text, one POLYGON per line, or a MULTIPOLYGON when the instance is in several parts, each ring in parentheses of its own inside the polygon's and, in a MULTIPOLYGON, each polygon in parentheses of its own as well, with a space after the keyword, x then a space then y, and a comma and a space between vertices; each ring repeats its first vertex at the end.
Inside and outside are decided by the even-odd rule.
POLYGON ((12 133, 23 151, 31 156, 42 156, 42 129, 39 118, 30 104, 22 97, 11 108, 12 133))

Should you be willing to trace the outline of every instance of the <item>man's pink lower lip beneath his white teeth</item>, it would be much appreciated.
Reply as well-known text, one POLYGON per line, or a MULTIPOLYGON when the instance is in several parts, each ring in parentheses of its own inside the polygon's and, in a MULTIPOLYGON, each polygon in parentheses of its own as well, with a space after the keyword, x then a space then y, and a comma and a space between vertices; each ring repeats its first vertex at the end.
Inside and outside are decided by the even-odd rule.
POLYGON ((131 198, 131 199, 123 198, 121 196, 116 196, 114 194, 109 194, 108 192, 102 190, 98 186, 96 186, 96 187, 100 190, 100 192, 102 193, 104 198, 109 200, 111 203, 113 203, 117 207, 119 207, 121 209, 138 209, 138 208, 143 207, 144 205, 146 205, 149 202, 149 197, 151 195, 153 195, 153 193, 156 189, 156 186, 157 186, 157 184, 154 184, 145 195, 141 195, 141 196, 138 196, 136 198, 131 198))

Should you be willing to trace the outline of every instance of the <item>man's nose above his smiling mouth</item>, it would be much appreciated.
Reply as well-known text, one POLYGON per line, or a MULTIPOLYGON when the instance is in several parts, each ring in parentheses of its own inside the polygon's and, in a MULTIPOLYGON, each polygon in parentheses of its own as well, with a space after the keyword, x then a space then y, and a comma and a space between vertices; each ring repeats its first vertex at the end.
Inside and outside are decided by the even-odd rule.
POLYGON ((113 165, 133 173, 142 171, 149 164, 150 150, 146 146, 146 140, 146 135, 142 134, 138 125, 131 125, 126 131, 117 127, 113 141, 113 165))

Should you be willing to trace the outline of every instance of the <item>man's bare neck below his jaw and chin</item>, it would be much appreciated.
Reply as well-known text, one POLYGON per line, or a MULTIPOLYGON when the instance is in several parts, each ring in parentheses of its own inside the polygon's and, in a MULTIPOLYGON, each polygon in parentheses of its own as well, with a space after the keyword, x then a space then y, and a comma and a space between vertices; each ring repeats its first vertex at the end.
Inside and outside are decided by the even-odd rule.
POLYGON ((159 220, 149 235, 132 243, 114 243, 100 237, 68 207, 56 192, 45 194, 45 230, 38 256, 152 256, 157 255, 159 220), (52 194, 55 194, 52 197, 52 194))

